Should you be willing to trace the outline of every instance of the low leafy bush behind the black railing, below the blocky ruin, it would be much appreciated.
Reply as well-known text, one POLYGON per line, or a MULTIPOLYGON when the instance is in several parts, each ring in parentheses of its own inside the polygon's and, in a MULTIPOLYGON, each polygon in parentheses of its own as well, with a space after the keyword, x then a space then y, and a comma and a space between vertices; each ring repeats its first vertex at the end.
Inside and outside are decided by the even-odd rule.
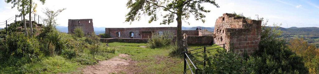
POLYGON ((246 62, 238 54, 226 50, 217 50, 217 54, 207 57, 207 65, 202 73, 239 74, 249 73, 246 62))

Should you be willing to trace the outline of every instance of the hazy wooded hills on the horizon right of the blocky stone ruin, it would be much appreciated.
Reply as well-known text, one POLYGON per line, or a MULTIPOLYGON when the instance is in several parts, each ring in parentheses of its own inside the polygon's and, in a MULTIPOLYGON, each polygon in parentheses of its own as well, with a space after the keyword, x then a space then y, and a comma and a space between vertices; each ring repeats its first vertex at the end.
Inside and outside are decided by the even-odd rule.
MULTIPOLYGON (((271 27, 274 28, 274 27, 271 27)), ((319 36, 319 28, 318 27, 290 27, 283 28, 280 27, 280 30, 283 31, 283 34, 286 35, 315 35, 319 36)))

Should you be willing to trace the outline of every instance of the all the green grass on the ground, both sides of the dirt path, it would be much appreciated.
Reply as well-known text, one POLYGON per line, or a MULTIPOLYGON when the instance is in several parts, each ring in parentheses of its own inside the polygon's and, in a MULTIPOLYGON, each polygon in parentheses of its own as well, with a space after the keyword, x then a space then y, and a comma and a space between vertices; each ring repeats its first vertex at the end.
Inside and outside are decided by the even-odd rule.
MULTIPOLYGON (((83 40, 83 38, 81 38, 83 40)), ((87 65, 97 64, 97 61, 107 60, 118 54, 128 54, 130 58, 135 62, 131 63, 134 66, 129 66, 128 70, 136 73, 144 74, 180 74, 183 72, 183 57, 171 56, 170 52, 173 50, 171 46, 161 47, 161 48, 142 48, 139 46, 146 46, 146 43, 121 43, 113 42, 109 43, 109 47, 106 47, 106 43, 101 43, 102 48, 115 49, 115 53, 103 52, 100 54, 90 54, 90 51, 86 48, 83 49, 82 53, 78 56, 68 59, 63 55, 59 56, 46 56, 41 58, 41 61, 36 61, 32 63, 23 64, 22 67, 0 65, 0 73, 81 73, 82 69, 87 65)), ((190 49, 201 48, 203 45, 189 45, 190 49)), ((219 46, 209 47, 218 48, 219 46)), ((203 49, 201 49, 203 50, 203 49)), ((200 50, 192 51, 196 53, 200 50)), ((207 51, 209 55, 216 53, 216 50, 207 51)), ((198 53, 190 58, 195 58, 194 63, 203 59, 203 54, 198 53), (197 61, 196 61, 197 60, 197 61)), ((201 63, 202 64, 202 63, 201 63)), ((198 66, 202 68, 201 66, 198 66)), ((189 71, 189 70, 188 70, 189 71)), ((125 74, 121 71, 120 74, 125 74)))

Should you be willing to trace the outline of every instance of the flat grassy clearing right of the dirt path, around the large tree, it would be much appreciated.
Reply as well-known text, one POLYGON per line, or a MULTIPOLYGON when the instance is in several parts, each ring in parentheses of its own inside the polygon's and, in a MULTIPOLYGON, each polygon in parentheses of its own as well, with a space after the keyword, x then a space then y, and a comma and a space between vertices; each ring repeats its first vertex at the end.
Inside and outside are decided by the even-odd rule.
MULTIPOLYGON (((105 43, 101 43, 105 46, 105 43)), ((129 67, 129 70, 137 73, 145 74, 170 74, 170 73, 182 73, 184 61, 183 57, 170 56, 169 53, 172 51, 170 46, 161 48, 142 48, 139 46, 146 46, 146 43, 109 43, 110 48, 115 48, 115 53, 128 54, 132 58, 135 65, 129 67)), ((203 45, 190 45, 191 49, 204 47, 203 45)), ((219 46, 209 47, 218 48, 219 46)), ((204 49, 201 49, 204 50, 204 49)), ((200 50, 192 51, 196 53, 200 50)), ((210 50, 207 52, 208 55, 216 53, 216 50, 210 50)), ((203 54, 199 53, 194 55, 197 60, 204 60, 203 54)))

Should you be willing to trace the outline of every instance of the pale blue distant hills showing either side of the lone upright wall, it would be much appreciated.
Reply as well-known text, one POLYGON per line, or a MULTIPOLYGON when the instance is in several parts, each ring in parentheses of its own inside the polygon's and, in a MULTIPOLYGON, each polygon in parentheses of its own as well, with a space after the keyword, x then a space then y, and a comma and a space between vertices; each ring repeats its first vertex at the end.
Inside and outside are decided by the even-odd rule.
MULTIPOLYGON (((105 33, 105 27, 93 27, 96 35, 105 33)), ((56 26, 56 29, 60 32, 68 33, 68 26, 56 26)))

